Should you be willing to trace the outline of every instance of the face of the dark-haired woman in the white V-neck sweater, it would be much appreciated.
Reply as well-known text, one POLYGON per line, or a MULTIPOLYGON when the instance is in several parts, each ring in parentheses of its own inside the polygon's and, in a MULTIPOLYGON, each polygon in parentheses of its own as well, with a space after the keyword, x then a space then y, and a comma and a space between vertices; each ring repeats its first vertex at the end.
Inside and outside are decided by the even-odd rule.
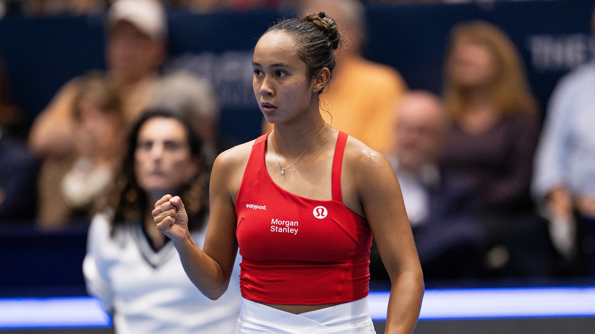
POLYGON ((134 173, 143 190, 155 196, 175 193, 198 172, 186 128, 173 118, 155 117, 140 127, 134 173))

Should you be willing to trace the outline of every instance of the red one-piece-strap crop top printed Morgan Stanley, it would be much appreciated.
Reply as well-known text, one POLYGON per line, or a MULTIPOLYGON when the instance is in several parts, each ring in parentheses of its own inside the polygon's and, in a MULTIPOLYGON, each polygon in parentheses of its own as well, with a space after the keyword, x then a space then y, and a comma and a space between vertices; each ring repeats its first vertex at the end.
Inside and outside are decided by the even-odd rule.
POLYGON ((242 297, 301 305, 366 297, 372 232, 367 220, 343 205, 347 134, 339 131, 330 201, 297 196, 273 182, 265 166, 267 137, 252 146, 236 199, 242 297))

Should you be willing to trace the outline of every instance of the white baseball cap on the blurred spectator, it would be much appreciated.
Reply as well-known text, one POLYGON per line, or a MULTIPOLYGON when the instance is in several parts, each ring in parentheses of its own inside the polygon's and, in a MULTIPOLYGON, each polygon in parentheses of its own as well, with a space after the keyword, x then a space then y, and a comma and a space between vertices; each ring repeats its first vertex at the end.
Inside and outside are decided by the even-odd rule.
POLYGON ((167 39, 165 8, 157 0, 117 0, 109 7, 108 24, 128 21, 152 39, 167 39))

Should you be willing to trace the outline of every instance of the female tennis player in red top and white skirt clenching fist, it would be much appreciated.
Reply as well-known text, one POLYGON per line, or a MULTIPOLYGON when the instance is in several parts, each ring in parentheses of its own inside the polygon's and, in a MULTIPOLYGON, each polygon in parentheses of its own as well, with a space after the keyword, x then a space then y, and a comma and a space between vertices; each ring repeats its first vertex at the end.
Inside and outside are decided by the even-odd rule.
POLYGON ((254 94, 274 130, 217 157, 203 250, 180 197, 155 203, 157 228, 207 297, 226 291, 239 246, 236 333, 375 333, 372 232, 392 282, 386 333, 409 334, 417 322, 424 283, 393 169, 318 109, 340 41, 324 12, 280 21, 258 40, 254 94))

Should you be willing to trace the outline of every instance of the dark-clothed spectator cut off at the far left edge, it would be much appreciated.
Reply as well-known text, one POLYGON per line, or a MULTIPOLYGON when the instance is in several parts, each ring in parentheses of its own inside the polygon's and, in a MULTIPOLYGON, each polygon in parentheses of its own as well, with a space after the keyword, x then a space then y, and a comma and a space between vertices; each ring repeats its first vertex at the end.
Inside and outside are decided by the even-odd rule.
POLYGON ((38 163, 24 141, 14 135, 18 113, 9 86, 0 58, 0 220, 32 220, 38 163))

